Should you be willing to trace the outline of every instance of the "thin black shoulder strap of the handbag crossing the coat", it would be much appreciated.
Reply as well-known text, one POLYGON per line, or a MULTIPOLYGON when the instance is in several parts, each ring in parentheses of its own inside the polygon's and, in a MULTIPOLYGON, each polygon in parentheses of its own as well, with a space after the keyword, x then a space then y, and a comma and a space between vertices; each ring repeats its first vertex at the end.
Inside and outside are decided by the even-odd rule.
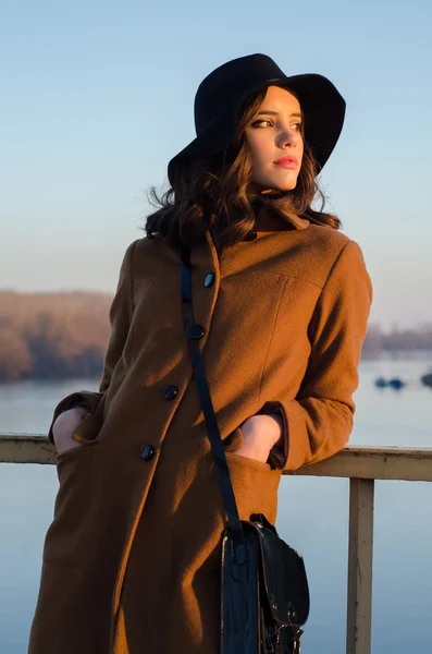
MULTIPOLYGON (((192 360, 193 374, 197 383, 199 399, 207 424, 207 435, 210 440, 211 451, 215 459, 219 471, 219 483, 227 516, 226 526, 237 536, 237 544, 245 546, 245 536, 243 533, 242 521, 238 516, 237 502, 235 501, 233 485, 231 483, 230 471, 226 463, 225 450, 223 448, 221 434, 218 427, 217 416, 213 403, 211 401, 210 390, 207 383, 201 353, 199 351, 198 340, 203 336, 199 326, 194 320, 194 308, 192 304, 192 277, 190 277, 190 250, 187 245, 182 245, 182 314, 185 324, 186 339, 189 346, 189 355, 192 360)), ((236 548, 237 549, 237 548, 236 548)), ((237 550, 236 558, 242 558, 242 553, 237 550)), ((240 562, 237 558, 237 562, 240 562)))

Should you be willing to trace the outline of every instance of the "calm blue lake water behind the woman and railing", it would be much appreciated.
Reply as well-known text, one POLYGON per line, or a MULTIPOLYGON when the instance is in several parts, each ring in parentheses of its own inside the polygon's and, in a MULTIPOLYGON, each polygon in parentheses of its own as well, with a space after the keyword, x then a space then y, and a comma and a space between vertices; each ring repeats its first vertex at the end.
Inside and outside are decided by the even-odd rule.
MULTIPOLYGON (((430 371, 432 353, 362 361, 350 444, 432 447, 432 389, 419 382, 430 371), (380 375, 400 376, 408 386, 377 389, 373 380, 380 375)), ((73 379, 0 386, 0 432, 45 434, 61 398, 78 389, 97 390, 97 384, 73 379)), ((0 464, 0 654, 27 652, 57 488, 53 465, 0 464)), ((303 554, 310 583, 301 652, 345 654, 348 481, 284 477, 279 497, 276 526, 303 554)), ((431 518, 432 483, 377 482, 373 654, 432 652, 431 518)))

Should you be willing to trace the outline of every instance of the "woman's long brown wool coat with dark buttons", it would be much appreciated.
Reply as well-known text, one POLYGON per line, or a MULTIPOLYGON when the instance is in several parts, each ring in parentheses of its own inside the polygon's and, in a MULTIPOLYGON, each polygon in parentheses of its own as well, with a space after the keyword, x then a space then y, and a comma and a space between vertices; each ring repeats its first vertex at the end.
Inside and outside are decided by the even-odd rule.
MULTIPOLYGON (((255 229, 220 259, 209 232, 193 249, 193 301, 240 517, 274 522, 282 471, 233 453, 239 426, 280 409, 289 471, 347 443, 372 288, 344 233, 263 205, 255 229)), ((91 405, 74 432, 83 445, 58 457, 29 654, 217 654, 224 511, 180 257, 161 239, 127 247, 110 320, 100 392, 72 393, 54 411, 91 405)))

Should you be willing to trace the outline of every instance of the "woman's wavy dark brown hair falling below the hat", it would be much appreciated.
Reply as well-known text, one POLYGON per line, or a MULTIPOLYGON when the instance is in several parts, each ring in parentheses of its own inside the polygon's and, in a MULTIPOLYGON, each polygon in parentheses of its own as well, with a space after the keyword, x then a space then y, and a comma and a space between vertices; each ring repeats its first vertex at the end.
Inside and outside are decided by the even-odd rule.
MULTIPOLYGON (((150 187, 148 199, 157 211, 147 216, 143 228, 149 239, 158 235, 174 245, 193 245, 202 241, 209 229, 218 250, 245 239, 255 222, 248 191, 251 155, 245 129, 266 95, 267 88, 263 88, 248 96, 239 111, 237 132, 227 148, 212 156, 181 160, 173 170, 172 186, 161 195, 155 186, 150 187)), ((316 225, 341 229, 341 220, 323 211, 325 198, 316 181, 318 172, 318 165, 305 143, 295 189, 259 197, 274 208, 294 211, 316 225), (321 198, 320 210, 311 208, 317 195, 321 198)))

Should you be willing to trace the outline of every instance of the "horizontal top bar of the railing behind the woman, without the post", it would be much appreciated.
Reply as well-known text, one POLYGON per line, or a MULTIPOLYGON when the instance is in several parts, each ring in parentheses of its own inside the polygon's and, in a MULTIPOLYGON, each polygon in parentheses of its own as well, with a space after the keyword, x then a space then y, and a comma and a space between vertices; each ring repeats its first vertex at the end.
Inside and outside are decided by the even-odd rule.
MULTIPOLYGON (((45 434, 0 434, 0 463, 55 461, 55 450, 45 434)), ((432 448, 348 445, 324 461, 286 474, 432 482, 432 448)))

